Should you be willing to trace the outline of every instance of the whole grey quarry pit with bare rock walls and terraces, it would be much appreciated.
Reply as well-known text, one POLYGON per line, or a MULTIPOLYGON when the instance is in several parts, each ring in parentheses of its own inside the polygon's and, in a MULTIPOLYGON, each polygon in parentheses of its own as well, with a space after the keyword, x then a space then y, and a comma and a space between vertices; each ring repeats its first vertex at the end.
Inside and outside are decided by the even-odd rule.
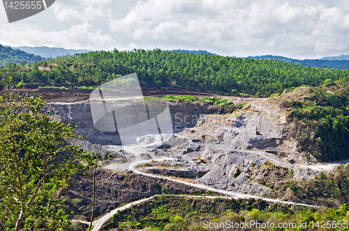
POLYGON ((142 173, 253 196, 272 191, 260 184, 262 175, 252 171, 265 163, 287 168, 293 179, 320 173, 320 164, 311 163, 297 151, 297 141, 285 139, 285 111, 265 98, 223 98, 246 106, 231 112, 209 103, 169 101, 174 134, 160 144, 160 136, 139 138, 137 152, 122 146, 117 134, 94 128, 86 99, 49 102, 45 110, 52 112, 54 120, 78 126, 77 134, 86 136, 79 141, 82 148, 99 152, 106 170, 130 172, 133 165, 142 173))

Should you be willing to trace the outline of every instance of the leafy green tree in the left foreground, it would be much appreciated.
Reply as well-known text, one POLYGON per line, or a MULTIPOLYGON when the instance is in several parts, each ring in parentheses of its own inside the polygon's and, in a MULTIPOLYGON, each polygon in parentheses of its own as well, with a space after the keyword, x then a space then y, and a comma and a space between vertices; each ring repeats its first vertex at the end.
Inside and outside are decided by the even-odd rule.
POLYGON ((69 144, 80 138, 74 129, 50 120, 43 106, 40 98, 15 91, 0 95, 1 230, 62 230, 68 211, 54 191, 93 167, 90 152, 69 144))

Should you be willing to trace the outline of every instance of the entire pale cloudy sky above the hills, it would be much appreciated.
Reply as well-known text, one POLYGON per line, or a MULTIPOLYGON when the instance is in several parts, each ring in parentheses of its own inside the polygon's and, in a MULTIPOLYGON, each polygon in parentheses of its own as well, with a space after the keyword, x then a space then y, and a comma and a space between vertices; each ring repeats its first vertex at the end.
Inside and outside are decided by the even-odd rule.
POLYGON ((349 1, 56 0, 8 23, 0 44, 66 49, 207 50, 223 56, 349 54, 349 1))

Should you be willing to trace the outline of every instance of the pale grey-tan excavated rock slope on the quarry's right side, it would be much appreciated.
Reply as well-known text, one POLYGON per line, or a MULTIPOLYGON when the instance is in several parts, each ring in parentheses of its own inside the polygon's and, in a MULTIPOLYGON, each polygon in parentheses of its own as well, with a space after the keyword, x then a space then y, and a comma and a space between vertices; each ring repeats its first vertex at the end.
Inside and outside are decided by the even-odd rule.
POLYGON ((294 179, 313 178, 318 174, 317 170, 294 165, 307 161, 292 142, 284 139, 284 122, 280 120, 253 108, 232 115, 201 115, 195 127, 184 129, 170 139, 172 148, 163 155, 181 155, 185 161, 203 159, 206 163, 189 168, 208 171, 199 182, 216 189, 262 196, 272 189, 260 184, 260 179, 248 177, 251 164, 258 170, 266 161, 271 161, 292 170, 294 179), (256 128, 260 135, 256 134, 256 128))

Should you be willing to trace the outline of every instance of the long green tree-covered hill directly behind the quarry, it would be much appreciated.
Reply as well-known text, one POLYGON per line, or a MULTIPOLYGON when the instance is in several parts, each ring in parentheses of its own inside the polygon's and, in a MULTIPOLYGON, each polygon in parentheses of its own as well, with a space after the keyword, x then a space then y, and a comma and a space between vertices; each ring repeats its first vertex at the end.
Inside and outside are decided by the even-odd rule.
POLYGON ((158 88, 177 86, 211 93, 267 96, 285 88, 319 86, 326 79, 349 80, 349 70, 314 68, 276 59, 248 59, 185 54, 154 49, 95 51, 39 63, 45 68, 8 65, 0 69, 1 85, 13 77, 41 86, 99 86, 137 72, 141 83, 158 88), (40 70, 39 70, 40 69, 40 70))

